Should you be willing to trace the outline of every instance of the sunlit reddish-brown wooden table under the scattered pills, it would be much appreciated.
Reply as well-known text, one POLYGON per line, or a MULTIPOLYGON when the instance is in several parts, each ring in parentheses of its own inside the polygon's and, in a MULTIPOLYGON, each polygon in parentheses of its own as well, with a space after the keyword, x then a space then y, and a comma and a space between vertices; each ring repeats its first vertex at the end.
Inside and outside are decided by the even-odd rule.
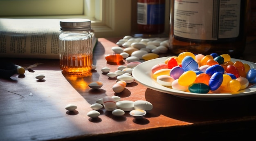
MULTIPOLYGON (((106 63, 104 55, 111 54, 119 38, 99 38, 94 48, 91 75, 76 77, 61 73, 59 61, 54 59, 8 59, 20 66, 43 63, 25 77, 18 74, 10 79, 0 78, 0 140, 193 140, 238 139, 254 137, 256 131, 256 95, 216 101, 198 101, 161 93, 141 84, 127 84, 122 93, 114 93, 116 79, 110 79, 101 68, 111 72, 116 65, 106 63), (35 76, 45 75, 45 82, 35 76), (103 82, 94 90, 92 81, 103 82), (32 93, 32 96, 29 94, 32 93), (153 110, 146 117, 135 120, 128 112, 115 117, 104 108, 99 118, 87 113, 91 104, 104 96, 117 95, 121 100, 146 100, 153 110), (65 110, 67 104, 78 106, 76 112, 65 110)), ((256 62, 255 44, 248 44, 240 59, 256 62)), ((124 65, 126 65, 125 63, 124 65)))

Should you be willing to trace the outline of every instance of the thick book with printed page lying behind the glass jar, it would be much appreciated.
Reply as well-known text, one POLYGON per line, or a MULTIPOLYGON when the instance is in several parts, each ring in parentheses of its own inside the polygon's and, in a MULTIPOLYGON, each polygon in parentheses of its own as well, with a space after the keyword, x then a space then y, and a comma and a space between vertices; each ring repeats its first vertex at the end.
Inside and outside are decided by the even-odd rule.
MULTIPOLYGON (((59 59, 60 19, 0 18, 0 57, 59 59)), ((92 34, 92 47, 97 38, 92 34)))

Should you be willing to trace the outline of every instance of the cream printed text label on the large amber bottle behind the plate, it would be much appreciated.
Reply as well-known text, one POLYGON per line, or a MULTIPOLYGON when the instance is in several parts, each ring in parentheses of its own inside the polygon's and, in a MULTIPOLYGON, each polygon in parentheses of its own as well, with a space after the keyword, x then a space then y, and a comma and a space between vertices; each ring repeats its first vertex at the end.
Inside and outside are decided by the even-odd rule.
POLYGON ((194 40, 238 37, 241 0, 175 0, 174 35, 194 40))

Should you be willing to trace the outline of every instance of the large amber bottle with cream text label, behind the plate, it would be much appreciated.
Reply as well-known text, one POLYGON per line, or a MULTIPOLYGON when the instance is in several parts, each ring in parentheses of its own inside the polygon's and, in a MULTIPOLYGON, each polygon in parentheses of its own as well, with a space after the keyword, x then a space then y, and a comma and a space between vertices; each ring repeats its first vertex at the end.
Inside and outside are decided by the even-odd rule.
POLYGON ((242 55, 248 4, 249 0, 171 0, 170 50, 242 55))

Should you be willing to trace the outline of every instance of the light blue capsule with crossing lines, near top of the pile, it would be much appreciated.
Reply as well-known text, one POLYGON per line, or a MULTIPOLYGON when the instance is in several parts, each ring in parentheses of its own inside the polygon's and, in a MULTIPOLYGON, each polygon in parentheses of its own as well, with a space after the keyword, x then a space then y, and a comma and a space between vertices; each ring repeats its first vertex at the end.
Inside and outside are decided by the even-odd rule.
POLYGON ((182 59, 181 65, 184 71, 195 71, 198 69, 198 63, 191 56, 184 57, 182 59))

